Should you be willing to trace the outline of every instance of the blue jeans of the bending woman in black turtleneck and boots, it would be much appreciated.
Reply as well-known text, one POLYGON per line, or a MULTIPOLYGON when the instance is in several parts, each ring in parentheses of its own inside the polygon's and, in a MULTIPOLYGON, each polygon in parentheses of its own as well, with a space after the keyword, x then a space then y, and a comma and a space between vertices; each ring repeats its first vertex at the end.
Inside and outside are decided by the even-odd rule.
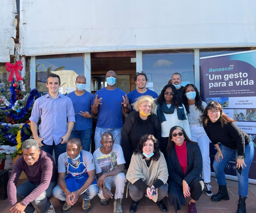
MULTIPOLYGON (((223 145, 220 145, 223 153, 223 160, 220 158, 220 163, 214 160, 213 162, 213 169, 218 180, 218 185, 226 185, 225 173, 224 169, 226 165, 229 163, 231 159, 237 159, 237 149, 230 149, 223 145)), ((249 180, 248 180, 248 173, 250 169, 250 165, 252 159, 254 158, 254 145, 252 141, 245 146, 245 158, 244 162, 247 167, 244 166, 242 169, 241 175, 236 171, 236 176, 238 177, 238 194, 244 197, 247 197, 248 187, 249 187, 249 180)))

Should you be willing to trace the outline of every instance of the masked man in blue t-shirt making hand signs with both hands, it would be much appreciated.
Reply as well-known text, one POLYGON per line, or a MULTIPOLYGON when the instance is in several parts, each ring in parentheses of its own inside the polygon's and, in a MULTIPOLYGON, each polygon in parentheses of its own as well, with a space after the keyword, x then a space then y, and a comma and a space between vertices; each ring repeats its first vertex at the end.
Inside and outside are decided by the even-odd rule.
POLYGON ((94 96, 91 111, 98 117, 94 136, 95 150, 101 147, 100 140, 104 132, 111 132, 115 143, 122 145, 122 108, 125 113, 129 114, 130 107, 126 93, 115 86, 116 78, 114 71, 108 71, 106 74, 107 87, 97 91, 94 96))

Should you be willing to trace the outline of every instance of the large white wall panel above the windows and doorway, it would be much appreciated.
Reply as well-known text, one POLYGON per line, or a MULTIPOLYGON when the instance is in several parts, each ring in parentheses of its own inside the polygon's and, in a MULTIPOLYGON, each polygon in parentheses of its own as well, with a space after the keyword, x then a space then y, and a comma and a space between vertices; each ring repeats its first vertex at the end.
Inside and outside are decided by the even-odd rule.
POLYGON ((255 0, 20 0, 25 55, 256 47, 255 0))

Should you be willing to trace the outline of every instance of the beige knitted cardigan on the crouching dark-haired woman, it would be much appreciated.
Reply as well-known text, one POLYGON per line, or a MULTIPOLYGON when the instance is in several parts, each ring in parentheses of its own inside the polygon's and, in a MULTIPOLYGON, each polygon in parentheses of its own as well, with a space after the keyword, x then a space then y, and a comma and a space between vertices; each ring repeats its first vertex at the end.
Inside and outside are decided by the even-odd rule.
MULTIPOLYGON (((149 167, 146 165, 146 161, 143 159, 142 154, 133 154, 126 174, 126 179, 129 181, 128 185, 130 183, 134 184, 139 179, 142 179, 148 186, 153 184, 157 179, 160 179, 166 184, 168 180, 168 169, 164 154, 161 153, 158 161, 151 160, 149 167)), ((126 197, 128 197, 128 185, 126 197)), ((156 202, 157 198, 158 193, 156 189, 156 195, 153 201, 156 202)))

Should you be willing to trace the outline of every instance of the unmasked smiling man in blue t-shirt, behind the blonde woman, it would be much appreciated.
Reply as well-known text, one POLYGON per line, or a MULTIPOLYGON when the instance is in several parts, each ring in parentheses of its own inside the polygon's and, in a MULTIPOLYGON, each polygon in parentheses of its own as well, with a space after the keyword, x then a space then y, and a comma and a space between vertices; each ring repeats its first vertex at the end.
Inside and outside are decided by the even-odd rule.
MULTIPOLYGON (((142 95, 150 95, 153 98, 158 98, 158 94, 150 89, 146 88, 146 84, 148 83, 148 78, 146 74, 143 72, 137 72, 134 76, 135 84, 137 85, 138 89, 134 89, 132 92, 128 93, 129 103, 134 103, 140 96, 142 95)), ((133 111, 132 107, 132 111, 133 111)))

